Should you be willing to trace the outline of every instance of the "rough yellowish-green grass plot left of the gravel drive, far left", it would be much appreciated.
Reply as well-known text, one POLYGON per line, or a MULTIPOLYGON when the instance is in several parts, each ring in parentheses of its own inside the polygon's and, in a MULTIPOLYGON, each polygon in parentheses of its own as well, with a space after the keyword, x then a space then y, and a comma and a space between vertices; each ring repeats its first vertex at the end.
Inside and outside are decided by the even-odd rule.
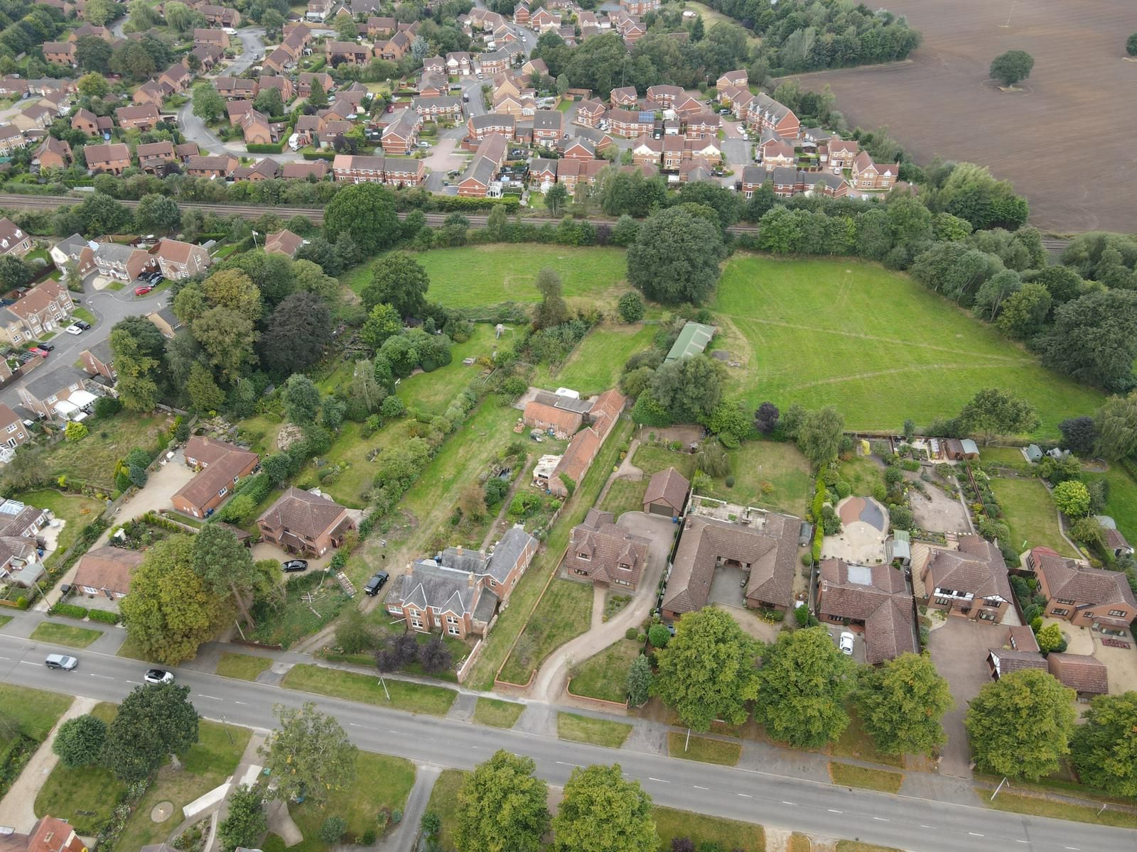
POLYGON ((165 423, 166 415, 130 411, 96 418, 86 424, 91 434, 82 441, 60 441, 44 453, 44 473, 52 479, 66 476, 97 488, 114 491, 115 466, 135 446, 153 450, 158 428, 165 423))

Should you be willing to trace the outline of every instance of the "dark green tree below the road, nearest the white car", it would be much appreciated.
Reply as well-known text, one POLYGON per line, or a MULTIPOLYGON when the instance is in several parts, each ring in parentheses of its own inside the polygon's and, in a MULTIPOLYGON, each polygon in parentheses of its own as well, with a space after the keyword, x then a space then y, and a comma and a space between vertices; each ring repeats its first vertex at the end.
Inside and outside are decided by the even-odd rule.
MULTIPOLYGON (((132 585, 128 596, 133 594, 132 585)), ((190 701, 189 686, 135 686, 107 728, 101 762, 122 780, 138 782, 197 741, 198 711, 190 701)))

